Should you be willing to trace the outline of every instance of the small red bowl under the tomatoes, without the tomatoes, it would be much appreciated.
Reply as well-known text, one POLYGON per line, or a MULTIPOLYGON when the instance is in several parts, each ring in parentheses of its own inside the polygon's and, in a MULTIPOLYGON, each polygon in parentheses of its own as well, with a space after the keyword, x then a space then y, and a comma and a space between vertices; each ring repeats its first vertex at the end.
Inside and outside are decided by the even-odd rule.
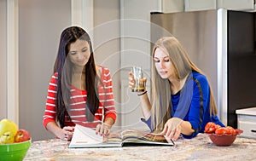
POLYGON ((217 134, 208 134, 212 143, 215 144, 216 146, 230 146, 233 144, 234 141, 236 141, 236 136, 240 135, 242 133, 241 129, 236 129, 236 134, 235 135, 217 135, 217 134))

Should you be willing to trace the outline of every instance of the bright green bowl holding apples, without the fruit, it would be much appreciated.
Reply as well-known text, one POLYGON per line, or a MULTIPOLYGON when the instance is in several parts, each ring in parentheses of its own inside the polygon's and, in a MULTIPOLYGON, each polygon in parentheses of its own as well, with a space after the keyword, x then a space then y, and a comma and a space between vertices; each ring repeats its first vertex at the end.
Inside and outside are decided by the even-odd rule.
POLYGON ((15 142, 11 144, 0 144, 1 161, 21 161, 31 146, 29 141, 15 142))

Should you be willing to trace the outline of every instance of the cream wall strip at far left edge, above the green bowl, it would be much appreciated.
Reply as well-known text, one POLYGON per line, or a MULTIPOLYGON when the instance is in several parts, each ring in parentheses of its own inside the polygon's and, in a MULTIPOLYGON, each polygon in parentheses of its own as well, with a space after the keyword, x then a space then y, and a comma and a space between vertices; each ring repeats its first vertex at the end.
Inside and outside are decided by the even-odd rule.
POLYGON ((1 1, 1 119, 19 124, 18 0, 1 1), (3 20, 3 22, 2 22, 3 20), (3 101, 3 102, 2 102, 3 101))

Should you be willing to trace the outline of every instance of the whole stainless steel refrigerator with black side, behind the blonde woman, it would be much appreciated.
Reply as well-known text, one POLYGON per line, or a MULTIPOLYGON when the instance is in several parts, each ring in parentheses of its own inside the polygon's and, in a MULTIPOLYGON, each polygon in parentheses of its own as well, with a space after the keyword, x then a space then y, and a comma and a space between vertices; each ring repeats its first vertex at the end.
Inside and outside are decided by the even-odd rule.
POLYGON ((177 37, 206 73, 219 118, 235 128, 236 109, 256 106, 255 17, 226 9, 151 13, 151 42, 177 37))

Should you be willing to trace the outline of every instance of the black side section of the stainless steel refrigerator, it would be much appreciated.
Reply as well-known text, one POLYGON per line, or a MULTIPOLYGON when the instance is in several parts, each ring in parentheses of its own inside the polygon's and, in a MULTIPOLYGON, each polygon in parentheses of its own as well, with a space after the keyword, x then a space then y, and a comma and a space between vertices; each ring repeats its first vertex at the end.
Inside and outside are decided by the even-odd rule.
POLYGON ((228 124, 236 109, 256 106, 255 13, 228 11, 228 124))

